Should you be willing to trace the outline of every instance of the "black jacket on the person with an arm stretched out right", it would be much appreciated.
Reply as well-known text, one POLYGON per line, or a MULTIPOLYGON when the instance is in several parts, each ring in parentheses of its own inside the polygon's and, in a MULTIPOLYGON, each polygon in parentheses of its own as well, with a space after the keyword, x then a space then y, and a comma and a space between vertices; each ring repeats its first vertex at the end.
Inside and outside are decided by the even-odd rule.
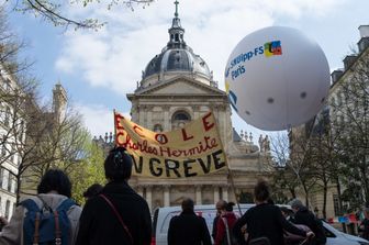
POLYGON ((271 245, 284 244, 283 230, 300 236, 306 236, 304 231, 284 219, 277 205, 268 203, 261 203, 247 210, 233 226, 233 233, 239 244, 246 244, 241 233, 241 227, 245 224, 247 224, 249 241, 265 236, 269 238, 271 245))

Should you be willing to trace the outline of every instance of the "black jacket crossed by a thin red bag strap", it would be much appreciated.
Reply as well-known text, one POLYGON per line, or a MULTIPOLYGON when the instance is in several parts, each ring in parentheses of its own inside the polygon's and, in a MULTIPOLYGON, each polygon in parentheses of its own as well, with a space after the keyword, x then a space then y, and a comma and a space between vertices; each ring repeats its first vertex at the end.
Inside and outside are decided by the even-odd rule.
MULTIPOLYGON (((149 245, 152 219, 146 201, 125 181, 110 182, 101 191, 115 205, 134 245, 149 245)), ((89 200, 80 216, 77 245, 131 244, 114 211, 102 197, 89 200)))

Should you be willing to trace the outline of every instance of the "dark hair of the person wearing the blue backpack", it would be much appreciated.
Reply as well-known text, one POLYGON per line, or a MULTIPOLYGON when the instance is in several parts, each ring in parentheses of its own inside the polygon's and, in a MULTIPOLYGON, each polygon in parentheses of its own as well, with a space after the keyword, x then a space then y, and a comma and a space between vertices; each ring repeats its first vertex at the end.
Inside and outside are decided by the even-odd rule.
POLYGON ((42 177, 37 186, 37 193, 56 191, 59 194, 71 197, 71 182, 68 176, 60 169, 49 169, 42 177))

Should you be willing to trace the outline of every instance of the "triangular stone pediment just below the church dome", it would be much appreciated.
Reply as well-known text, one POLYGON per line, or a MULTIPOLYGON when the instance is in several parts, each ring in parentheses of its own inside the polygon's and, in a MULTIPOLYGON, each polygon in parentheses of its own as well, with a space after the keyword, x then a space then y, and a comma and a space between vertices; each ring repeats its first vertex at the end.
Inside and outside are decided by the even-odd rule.
POLYGON ((225 96, 225 92, 204 85, 197 80, 187 78, 176 78, 168 81, 163 81, 157 85, 150 86, 136 94, 206 94, 206 96, 225 96))

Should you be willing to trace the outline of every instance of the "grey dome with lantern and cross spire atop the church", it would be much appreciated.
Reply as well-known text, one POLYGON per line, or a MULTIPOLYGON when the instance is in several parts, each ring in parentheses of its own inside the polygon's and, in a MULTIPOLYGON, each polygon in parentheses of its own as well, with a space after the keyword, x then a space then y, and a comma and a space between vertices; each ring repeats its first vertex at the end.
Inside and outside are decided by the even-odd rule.
POLYGON ((185 29, 180 24, 176 8, 172 25, 168 30, 169 42, 160 54, 156 55, 143 71, 143 80, 166 73, 189 73, 212 80, 212 74, 206 63, 189 47, 183 41, 185 29))

